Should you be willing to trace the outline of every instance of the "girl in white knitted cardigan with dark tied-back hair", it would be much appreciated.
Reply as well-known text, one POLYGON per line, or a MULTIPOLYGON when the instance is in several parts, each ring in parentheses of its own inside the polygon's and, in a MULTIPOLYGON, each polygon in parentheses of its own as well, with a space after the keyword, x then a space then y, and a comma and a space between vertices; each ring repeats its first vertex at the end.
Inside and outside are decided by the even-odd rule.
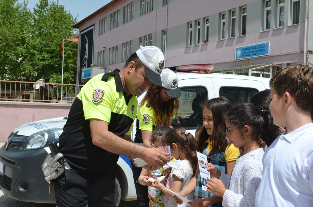
POLYGON ((232 175, 221 172, 213 164, 207 164, 210 172, 207 191, 223 197, 223 206, 254 206, 256 191, 263 175, 260 145, 262 137, 278 136, 277 130, 269 127, 272 117, 269 111, 261 110, 251 103, 239 104, 228 111, 225 117, 227 137, 235 147, 243 147, 232 175))

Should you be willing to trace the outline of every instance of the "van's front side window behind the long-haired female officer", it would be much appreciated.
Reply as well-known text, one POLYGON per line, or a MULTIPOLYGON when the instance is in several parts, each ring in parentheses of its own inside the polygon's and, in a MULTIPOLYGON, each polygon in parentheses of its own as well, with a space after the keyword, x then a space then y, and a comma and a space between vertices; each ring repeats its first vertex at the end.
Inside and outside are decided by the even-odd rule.
POLYGON ((208 100, 208 92, 202 87, 180 88, 178 121, 172 119, 172 126, 196 129, 202 125, 202 108, 200 102, 208 100))

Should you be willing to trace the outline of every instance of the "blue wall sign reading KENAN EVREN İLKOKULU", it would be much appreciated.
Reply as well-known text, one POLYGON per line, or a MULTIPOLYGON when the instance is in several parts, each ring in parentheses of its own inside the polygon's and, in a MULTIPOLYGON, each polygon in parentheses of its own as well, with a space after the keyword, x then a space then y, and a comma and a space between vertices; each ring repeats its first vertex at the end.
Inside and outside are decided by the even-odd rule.
POLYGON ((235 60, 269 55, 269 42, 236 48, 235 60))

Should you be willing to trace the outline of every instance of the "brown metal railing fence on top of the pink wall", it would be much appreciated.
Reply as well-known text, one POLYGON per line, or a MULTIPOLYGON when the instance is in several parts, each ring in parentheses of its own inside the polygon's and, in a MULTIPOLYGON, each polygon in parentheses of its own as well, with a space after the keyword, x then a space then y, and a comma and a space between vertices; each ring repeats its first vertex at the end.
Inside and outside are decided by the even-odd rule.
POLYGON ((0 80, 0 101, 73 103, 82 86, 0 80))

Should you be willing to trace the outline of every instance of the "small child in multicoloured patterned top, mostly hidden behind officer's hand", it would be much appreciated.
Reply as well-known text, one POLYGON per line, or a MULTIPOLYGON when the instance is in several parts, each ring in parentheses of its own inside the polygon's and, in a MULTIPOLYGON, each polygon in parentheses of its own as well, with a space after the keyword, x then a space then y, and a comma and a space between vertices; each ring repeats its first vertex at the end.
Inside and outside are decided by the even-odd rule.
MULTIPOLYGON (((158 148, 163 146, 163 138, 164 135, 170 130, 171 128, 168 125, 160 126, 152 131, 152 135, 150 138, 151 146, 158 148)), ((171 158, 171 160, 175 160, 175 158, 171 158)), ((163 167, 158 168, 156 170, 146 170, 142 169, 141 174, 138 178, 138 181, 142 185, 148 185, 148 197, 149 197, 149 207, 164 207, 164 192, 159 189, 156 189, 152 186, 152 183, 149 181, 149 178, 158 179, 161 176, 165 176, 164 179, 161 181, 162 183, 166 184, 167 178, 171 172, 172 168, 168 165, 163 165, 163 167)))

